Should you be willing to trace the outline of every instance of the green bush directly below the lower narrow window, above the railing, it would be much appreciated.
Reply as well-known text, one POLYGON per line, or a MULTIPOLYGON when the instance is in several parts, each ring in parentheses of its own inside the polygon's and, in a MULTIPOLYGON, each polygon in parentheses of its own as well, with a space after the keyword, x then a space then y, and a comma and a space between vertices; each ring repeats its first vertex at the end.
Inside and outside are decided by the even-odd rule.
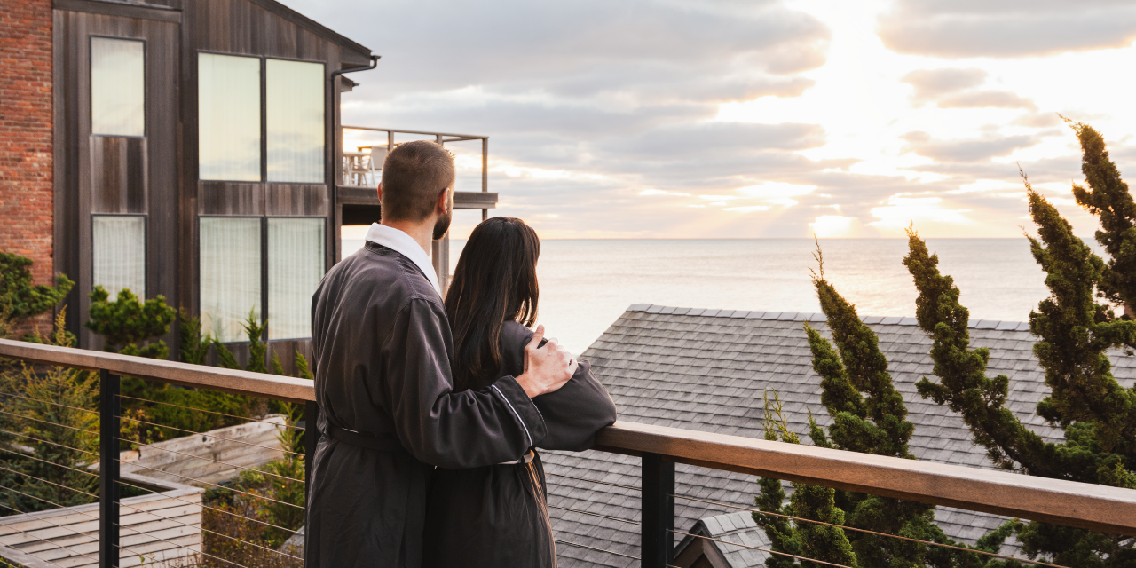
POLYGON ((174 323, 177 311, 166 306, 165 296, 158 295, 143 302, 124 289, 115 301, 109 301, 107 291, 94 286, 90 298, 91 319, 85 325, 102 335, 107 351, 151 359, 169 356, 166 342, 157 337, 169 333, 169 324, 174 323))

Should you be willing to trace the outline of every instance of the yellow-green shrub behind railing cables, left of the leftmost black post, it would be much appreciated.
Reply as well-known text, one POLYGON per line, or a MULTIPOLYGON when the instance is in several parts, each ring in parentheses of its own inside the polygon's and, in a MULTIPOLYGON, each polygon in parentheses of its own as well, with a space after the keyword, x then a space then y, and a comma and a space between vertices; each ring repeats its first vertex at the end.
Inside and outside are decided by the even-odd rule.
MULTIPOLYGON (((51 337, 72 346, 64 317, 51 337)), ((99 478, 86 466, 99 456, 98 391, 97 374, 66 367, 0 374, 0 515, 97 500, 99 478)))

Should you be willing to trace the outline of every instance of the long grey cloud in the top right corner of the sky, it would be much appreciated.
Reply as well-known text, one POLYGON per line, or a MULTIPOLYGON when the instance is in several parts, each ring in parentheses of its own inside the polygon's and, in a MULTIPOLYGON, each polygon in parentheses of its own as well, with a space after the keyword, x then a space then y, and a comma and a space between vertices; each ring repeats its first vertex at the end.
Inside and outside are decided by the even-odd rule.
POLYGON ((1128 47, 1129 0, 897 0, 877 22, 884 44, 934 57, 1034 57, 1128 47))

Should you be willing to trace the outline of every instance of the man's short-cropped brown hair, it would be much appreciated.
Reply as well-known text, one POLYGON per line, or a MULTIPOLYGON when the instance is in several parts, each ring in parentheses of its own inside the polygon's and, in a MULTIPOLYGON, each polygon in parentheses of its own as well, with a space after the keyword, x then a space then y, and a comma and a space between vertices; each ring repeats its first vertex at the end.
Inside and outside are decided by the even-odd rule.
POLYGON ((384 220, 420 222, 453 185, 453 154, 428 140, 394 147, 383 161, 384 220))

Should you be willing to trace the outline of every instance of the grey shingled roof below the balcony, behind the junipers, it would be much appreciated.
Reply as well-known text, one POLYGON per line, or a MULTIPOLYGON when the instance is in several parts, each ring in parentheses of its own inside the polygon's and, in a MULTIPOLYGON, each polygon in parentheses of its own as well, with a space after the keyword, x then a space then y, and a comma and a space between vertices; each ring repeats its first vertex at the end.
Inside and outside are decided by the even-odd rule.
MULTIPOLYGON (((920 460, 993 468, 957 414, 916 393, 916 382, 934 377, 928 356, 932 342, 914 318, 862 319, 879 337, 892 379, 916 426, 911 453, 920 460)), ((776 390, 790 426, 808 440, 809 411, 821 426, 827 426, 829 418, 820 404, 820 377, 812 370, 802 328, 805 320, 828 334, 822 314, 635 304, 580 358, 592 361, 594 373, 616 401, 620 420, 762 437, 762 394, 776 390)), ((969 327, 971 345, 991 350, 989 375, 1010 377, 1006 408, 1046 441, 1061 441, 1061 432, 1046 426, 1034 412, 1049 390, 1033 354, 1037 339, 1029 333, 1029 326, 971 320, 969 327)), ((1120 351, 1110 357, 1120 383, 1126 387, 1136 383, 1136 357, 1120 351)), ((560 565, 637 566, 638 459, 598 451, 542 456, 549 475, 550 513, 560 541, 560 565)), ((678 465, 676 490, 683 496, 752 507, 758 485, 753 476, 678 465)), ((768 546, 763 532, 745 511, 677 499, 675 513, 677 531, 699 531, 728 542, 768 546)), ((935 517, 950 536, 968 543, 1002 520, 943 507, 935 517)), ((687 536, 678 544, 685 546, 691 540, 687 536)), ((763 553, 715 545, 734 568, 763 563, 763 553)), ((1014 551, 1016 546, 1003 549, 1004 553, 1014 551)))

